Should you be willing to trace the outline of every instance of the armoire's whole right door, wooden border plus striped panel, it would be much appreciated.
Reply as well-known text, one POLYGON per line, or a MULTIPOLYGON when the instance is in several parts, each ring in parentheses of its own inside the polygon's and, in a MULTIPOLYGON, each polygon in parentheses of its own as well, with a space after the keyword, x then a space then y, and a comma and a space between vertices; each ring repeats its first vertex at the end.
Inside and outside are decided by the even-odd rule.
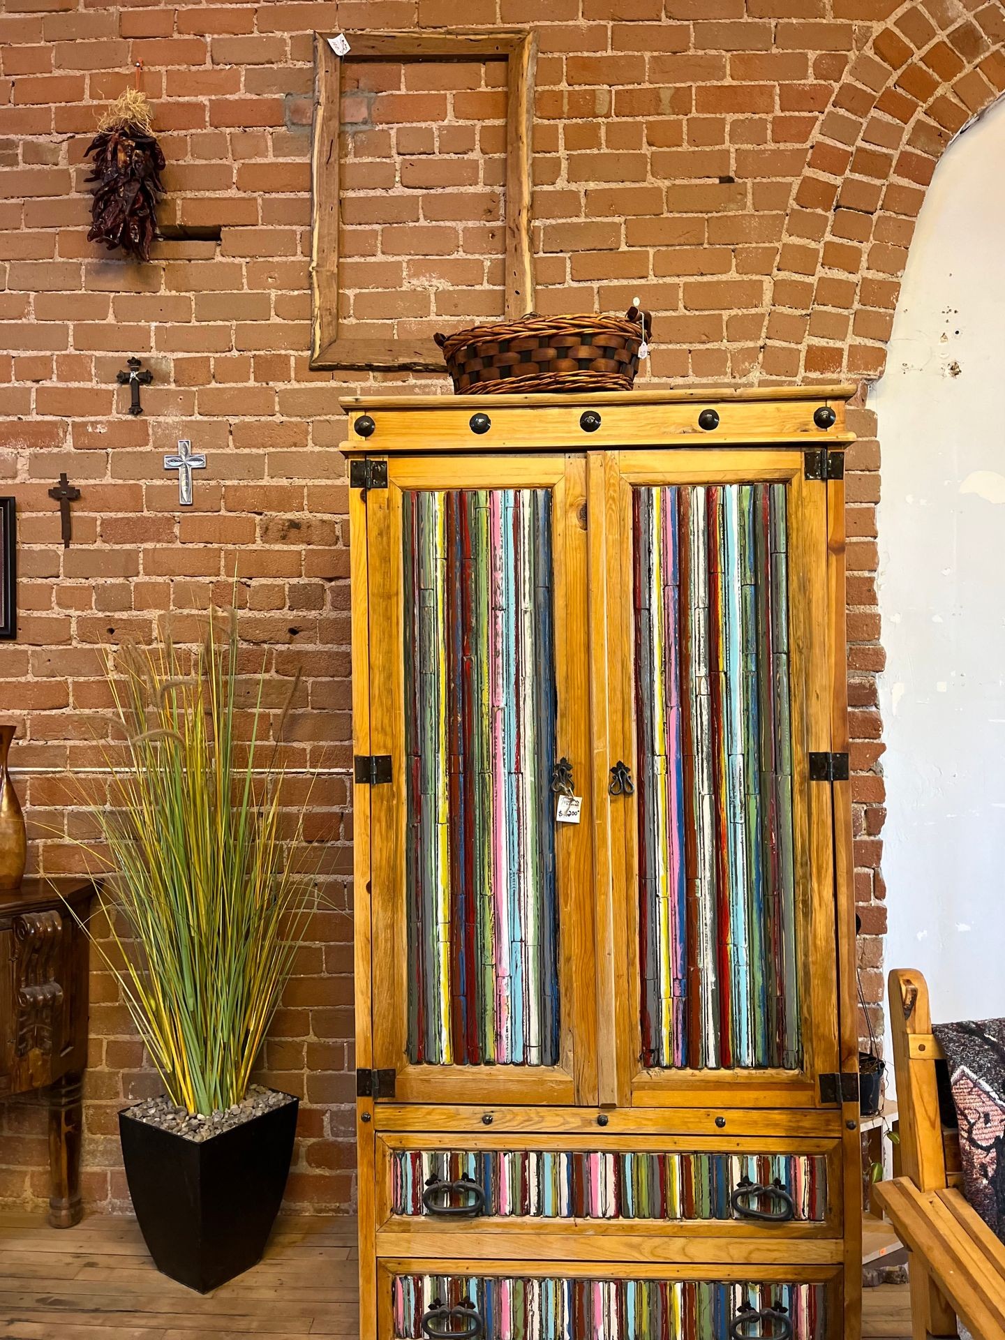
POLYGON ((619 458, 632 1093, 815 1103, 838 1017, 807 766, 829 749, 825 490, 801 453, 695 456, 619 458))

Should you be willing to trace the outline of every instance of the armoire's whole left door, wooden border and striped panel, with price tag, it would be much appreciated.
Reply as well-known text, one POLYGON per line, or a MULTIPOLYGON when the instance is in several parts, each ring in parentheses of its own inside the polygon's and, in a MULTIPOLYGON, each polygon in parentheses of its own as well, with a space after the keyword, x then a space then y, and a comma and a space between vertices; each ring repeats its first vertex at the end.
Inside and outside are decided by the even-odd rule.
POLYGON ((590 1092, 582 465, 393 461, 367 500, 375 1064, 397 1096, 590 1092), (379 742, 383 741, 383 742, 379 742), (572 973, 572 963, 576 973, 572 973), (580 1000, 582 996, 582 1000, 580 1000))

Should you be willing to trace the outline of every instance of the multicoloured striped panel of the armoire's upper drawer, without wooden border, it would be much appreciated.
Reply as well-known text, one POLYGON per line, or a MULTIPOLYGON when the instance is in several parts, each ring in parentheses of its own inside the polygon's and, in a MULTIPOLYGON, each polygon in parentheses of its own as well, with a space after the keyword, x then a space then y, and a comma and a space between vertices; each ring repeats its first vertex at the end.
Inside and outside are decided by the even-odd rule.
MULTIPOLYGON (((426 1213, 436 1182, 476 1182, 484 1214, 540 1219, 736 1218, 730 1195, 744 1185, 781 1187, 797 1222, 827 1217, 827 1159, 819 1154, 706 1154, 614 1150, 397 1150, 391 1211, 426 1213)), ((764 1214, 781 1202, 744 1198, 764 1214)))

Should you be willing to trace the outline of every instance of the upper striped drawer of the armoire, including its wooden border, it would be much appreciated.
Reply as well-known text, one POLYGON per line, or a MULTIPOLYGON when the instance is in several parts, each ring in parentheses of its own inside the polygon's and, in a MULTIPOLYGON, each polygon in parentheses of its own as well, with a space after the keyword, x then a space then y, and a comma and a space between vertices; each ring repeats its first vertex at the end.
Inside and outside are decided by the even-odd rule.
POLYGON ((378 1226, 515 1233, 531 1254, 583 1223, 594 1241, 842 1231, 839 1146, 823 1138, 385 1134, 378 1151, 378 1226))

